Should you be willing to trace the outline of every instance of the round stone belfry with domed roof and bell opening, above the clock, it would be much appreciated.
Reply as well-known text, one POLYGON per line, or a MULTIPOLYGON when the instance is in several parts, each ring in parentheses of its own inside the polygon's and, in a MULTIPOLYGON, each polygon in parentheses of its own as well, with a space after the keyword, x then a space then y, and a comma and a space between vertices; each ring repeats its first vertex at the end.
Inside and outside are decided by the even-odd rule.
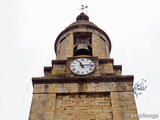
POLYGON ((89 21, 85 13, 77 16, 76 22, 63 30, 55 41, 57 59, 67 57, 94 56, 109 58, 111 42, 108 35, 89 21))

